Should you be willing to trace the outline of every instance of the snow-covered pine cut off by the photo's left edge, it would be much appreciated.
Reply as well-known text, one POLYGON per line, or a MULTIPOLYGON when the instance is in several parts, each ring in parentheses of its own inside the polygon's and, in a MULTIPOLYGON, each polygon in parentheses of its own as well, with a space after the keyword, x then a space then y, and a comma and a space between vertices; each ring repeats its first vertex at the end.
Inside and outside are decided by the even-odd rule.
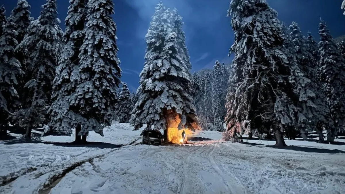
POLYGON ((14 23, 8 19, 0 37, 0 137, 7 134, 6 126, 9 116, 21 107, 15 87, 24 72, 14 53, 18 43, 16 36, 14 23))

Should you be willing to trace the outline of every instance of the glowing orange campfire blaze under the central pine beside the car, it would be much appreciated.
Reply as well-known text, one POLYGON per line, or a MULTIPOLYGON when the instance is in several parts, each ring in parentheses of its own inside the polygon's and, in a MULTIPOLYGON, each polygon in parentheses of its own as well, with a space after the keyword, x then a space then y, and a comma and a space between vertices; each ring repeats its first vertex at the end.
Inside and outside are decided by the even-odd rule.
POLYGON ((187 137, 190 137, 191 135, 195 134, 197 130, 201 130, 199 125, 196 122, 191 123, 191 126, 196 129, 196 131, 190 130, 188 128, 178 129, 178 125, 181 122, 181 119, 179 118, 179 115, 177 114, 170 114, 169 118, 167 119, 168 124, 168 142, 173 144, 183 144, 183 137, 182 132, 185 131, 186 134, 186 140, 187 137), (174 115, 174 116, 172 116, 174 115))

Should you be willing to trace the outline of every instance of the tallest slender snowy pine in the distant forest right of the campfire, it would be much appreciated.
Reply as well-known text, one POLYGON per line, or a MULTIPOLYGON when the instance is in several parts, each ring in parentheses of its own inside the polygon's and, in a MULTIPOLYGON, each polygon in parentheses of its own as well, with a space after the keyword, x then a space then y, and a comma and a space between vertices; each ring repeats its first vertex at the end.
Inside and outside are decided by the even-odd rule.
POLYGON ((214 130, 224 131, 223 121, 225 118, 225 105, 222 104, 222 96, 224 88, 224 69, 223 66, 216 60, 213 66, 213 80, 212 80, 212 113, 214 130), (219 123, 220 122, 220 123, 219 123))

